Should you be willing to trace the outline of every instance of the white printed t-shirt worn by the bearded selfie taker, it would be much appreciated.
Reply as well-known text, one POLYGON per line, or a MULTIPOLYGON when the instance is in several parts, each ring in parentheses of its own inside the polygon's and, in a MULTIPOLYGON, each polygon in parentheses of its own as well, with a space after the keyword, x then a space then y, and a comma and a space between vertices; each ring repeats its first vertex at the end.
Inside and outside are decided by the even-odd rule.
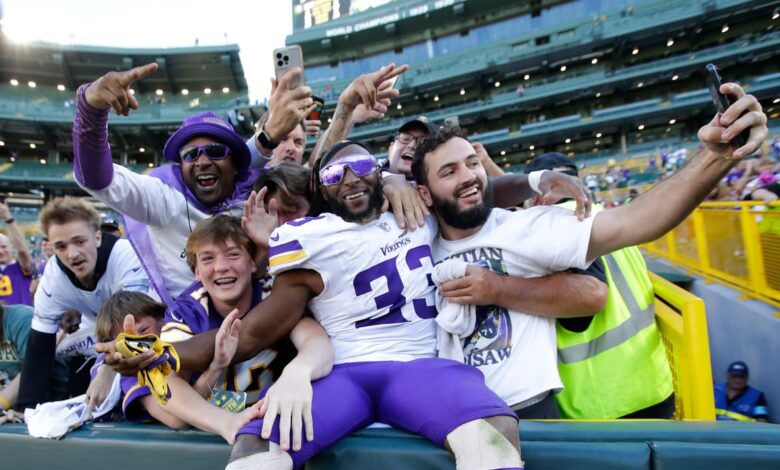
MULTIPOLYGON (((479 232, 462 240, 441 237, 433 244, 439 263, 460 258, 494 272, 540 277, 568 268, 584 269, 593 218, 578 221, 558 207, 510 212, 493 209, 479 232)), ((510 406, 563 388, 558 375, 555 320, 496 307, 477 307, 477 327, 464 347, 466 363, 510 406)))

